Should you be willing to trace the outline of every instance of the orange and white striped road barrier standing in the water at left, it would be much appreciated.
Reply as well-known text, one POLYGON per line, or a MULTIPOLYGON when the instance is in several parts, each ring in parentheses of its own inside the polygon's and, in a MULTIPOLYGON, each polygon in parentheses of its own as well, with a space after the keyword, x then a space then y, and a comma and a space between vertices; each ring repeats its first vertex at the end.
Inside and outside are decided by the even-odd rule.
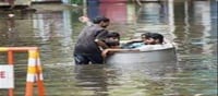
MULTIPOLYGON (((38 86, 38 96, 45 96, 43 69, 37 47, 0 47, 0 52, 8 52, 10 65, 14 64, 14 52, 28 52, 25 96, 34 96, 35 84, 38 86)), ((9 96, 14 96, 13 87, 9 88, 9 96)))

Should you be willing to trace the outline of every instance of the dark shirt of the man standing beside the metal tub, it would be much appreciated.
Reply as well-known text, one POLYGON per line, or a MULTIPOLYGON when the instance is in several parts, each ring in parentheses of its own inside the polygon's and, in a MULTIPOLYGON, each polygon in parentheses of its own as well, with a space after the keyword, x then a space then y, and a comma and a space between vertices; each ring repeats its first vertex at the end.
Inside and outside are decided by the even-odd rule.
POLYGON ((104 29, 99 25, 90 25, 84 27, 77 38, 75 44, 74 53, 101 53, 98 45, 95 43, 95 39, 104 40, 108 34, 107 29, 104 29))

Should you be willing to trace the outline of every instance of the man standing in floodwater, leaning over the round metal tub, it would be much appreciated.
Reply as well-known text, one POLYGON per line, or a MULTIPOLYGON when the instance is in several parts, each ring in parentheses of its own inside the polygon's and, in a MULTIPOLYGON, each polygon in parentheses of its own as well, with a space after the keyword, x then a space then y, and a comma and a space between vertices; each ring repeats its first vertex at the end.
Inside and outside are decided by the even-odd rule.
MULTIPOLYGON (((82 19, 83 22, 88 21, 87 19, 84 19, 85 17, 82 19)), ((104 63, 100 48, 108 48, 104 39, 106 39, 108 34, 106 28, 109 23, 110 20, 108 17, 97 16, 90 24, 82 29, 74 46, 75 64, 104 63)))

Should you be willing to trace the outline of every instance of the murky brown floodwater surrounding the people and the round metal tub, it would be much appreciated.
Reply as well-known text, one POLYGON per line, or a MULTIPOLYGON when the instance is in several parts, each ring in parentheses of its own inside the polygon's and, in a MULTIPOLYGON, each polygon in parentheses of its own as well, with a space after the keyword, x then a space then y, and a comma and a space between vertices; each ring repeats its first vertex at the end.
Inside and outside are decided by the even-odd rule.
MULTIPOLYGON (((40 49, 46 96, 217 96, 217 1, 96 3, 83 9, 0 13, 0 46, 40 49), (77 17, 104 14, 122 40, 158 32, 177 46, 178 61, 75 65, 84 26, 77 17)), ((15 53, 15 96, 24 96, 26 53, 15 53)), ((131 61, 130 61, 131 62, 131 61)), ((0 63, 7 63, 0 52, 0 63)), ((35 88, 37 89, 37 88, 35 88)), ((37 94, 37 91, 35 91, 37 94)), ((0 89, 7 96, 7 89, 0 89)))

